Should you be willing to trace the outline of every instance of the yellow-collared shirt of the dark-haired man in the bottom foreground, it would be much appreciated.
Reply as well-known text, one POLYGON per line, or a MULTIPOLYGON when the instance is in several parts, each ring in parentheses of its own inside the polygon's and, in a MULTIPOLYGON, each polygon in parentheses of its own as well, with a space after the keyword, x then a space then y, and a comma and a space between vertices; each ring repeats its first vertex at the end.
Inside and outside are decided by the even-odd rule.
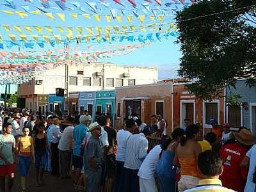
POLYGON ((198 186, 184 192, 234 192, 234 190, 224 188, 219 179, 203 179, 199 180, 198 186))

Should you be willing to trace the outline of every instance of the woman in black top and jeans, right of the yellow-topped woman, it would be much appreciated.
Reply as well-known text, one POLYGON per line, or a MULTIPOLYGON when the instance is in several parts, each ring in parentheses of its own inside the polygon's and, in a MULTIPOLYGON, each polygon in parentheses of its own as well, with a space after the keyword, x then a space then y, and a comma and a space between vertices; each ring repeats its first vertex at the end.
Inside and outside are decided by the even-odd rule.
POLYGON ((38 124, 34 135, 35 143, 35 166, 36 166, 36 186, 44 184, 44 167, 47 161, 47 150, 50 152, 47 145, 47 135, 45 133, 44 124, 38 124))

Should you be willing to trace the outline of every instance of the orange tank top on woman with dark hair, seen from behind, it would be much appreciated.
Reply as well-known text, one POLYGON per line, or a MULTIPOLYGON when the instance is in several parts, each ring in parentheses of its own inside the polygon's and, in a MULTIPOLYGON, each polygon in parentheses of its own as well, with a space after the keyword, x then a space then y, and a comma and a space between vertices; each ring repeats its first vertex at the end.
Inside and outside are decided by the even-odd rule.
POLYGON ((179 158, 180 175, 189 175, 198 177, 197 165, 195 158, 179 158))

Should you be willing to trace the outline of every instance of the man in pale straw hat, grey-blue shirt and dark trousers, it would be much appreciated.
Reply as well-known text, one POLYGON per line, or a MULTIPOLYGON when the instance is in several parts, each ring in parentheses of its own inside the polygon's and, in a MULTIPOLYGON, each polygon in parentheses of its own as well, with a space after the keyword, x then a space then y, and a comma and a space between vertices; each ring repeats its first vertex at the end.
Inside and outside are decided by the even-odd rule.
POLYGON ((100 147, 101 127, 95 122, 89 125, 92 133, 88 143, 84 148, 84 173, 87 177, 86 192, 99 191, 101 179, 102 150, 100 147))

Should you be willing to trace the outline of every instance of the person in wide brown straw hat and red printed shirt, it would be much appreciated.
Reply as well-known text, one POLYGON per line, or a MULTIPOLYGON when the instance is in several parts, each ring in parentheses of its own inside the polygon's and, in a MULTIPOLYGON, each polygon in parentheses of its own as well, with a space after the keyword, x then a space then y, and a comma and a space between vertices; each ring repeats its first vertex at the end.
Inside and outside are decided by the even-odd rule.
POLYGON ((236 138, 236 141, 224 145, 220 150, 223 160, 223 173, 220 180, 225 188, 242 192, 246 183, 246 168, 241 168, 240 164, 248 148, 256 143, 256 138, 248 129, 232 133, 232 136, 236 138))

